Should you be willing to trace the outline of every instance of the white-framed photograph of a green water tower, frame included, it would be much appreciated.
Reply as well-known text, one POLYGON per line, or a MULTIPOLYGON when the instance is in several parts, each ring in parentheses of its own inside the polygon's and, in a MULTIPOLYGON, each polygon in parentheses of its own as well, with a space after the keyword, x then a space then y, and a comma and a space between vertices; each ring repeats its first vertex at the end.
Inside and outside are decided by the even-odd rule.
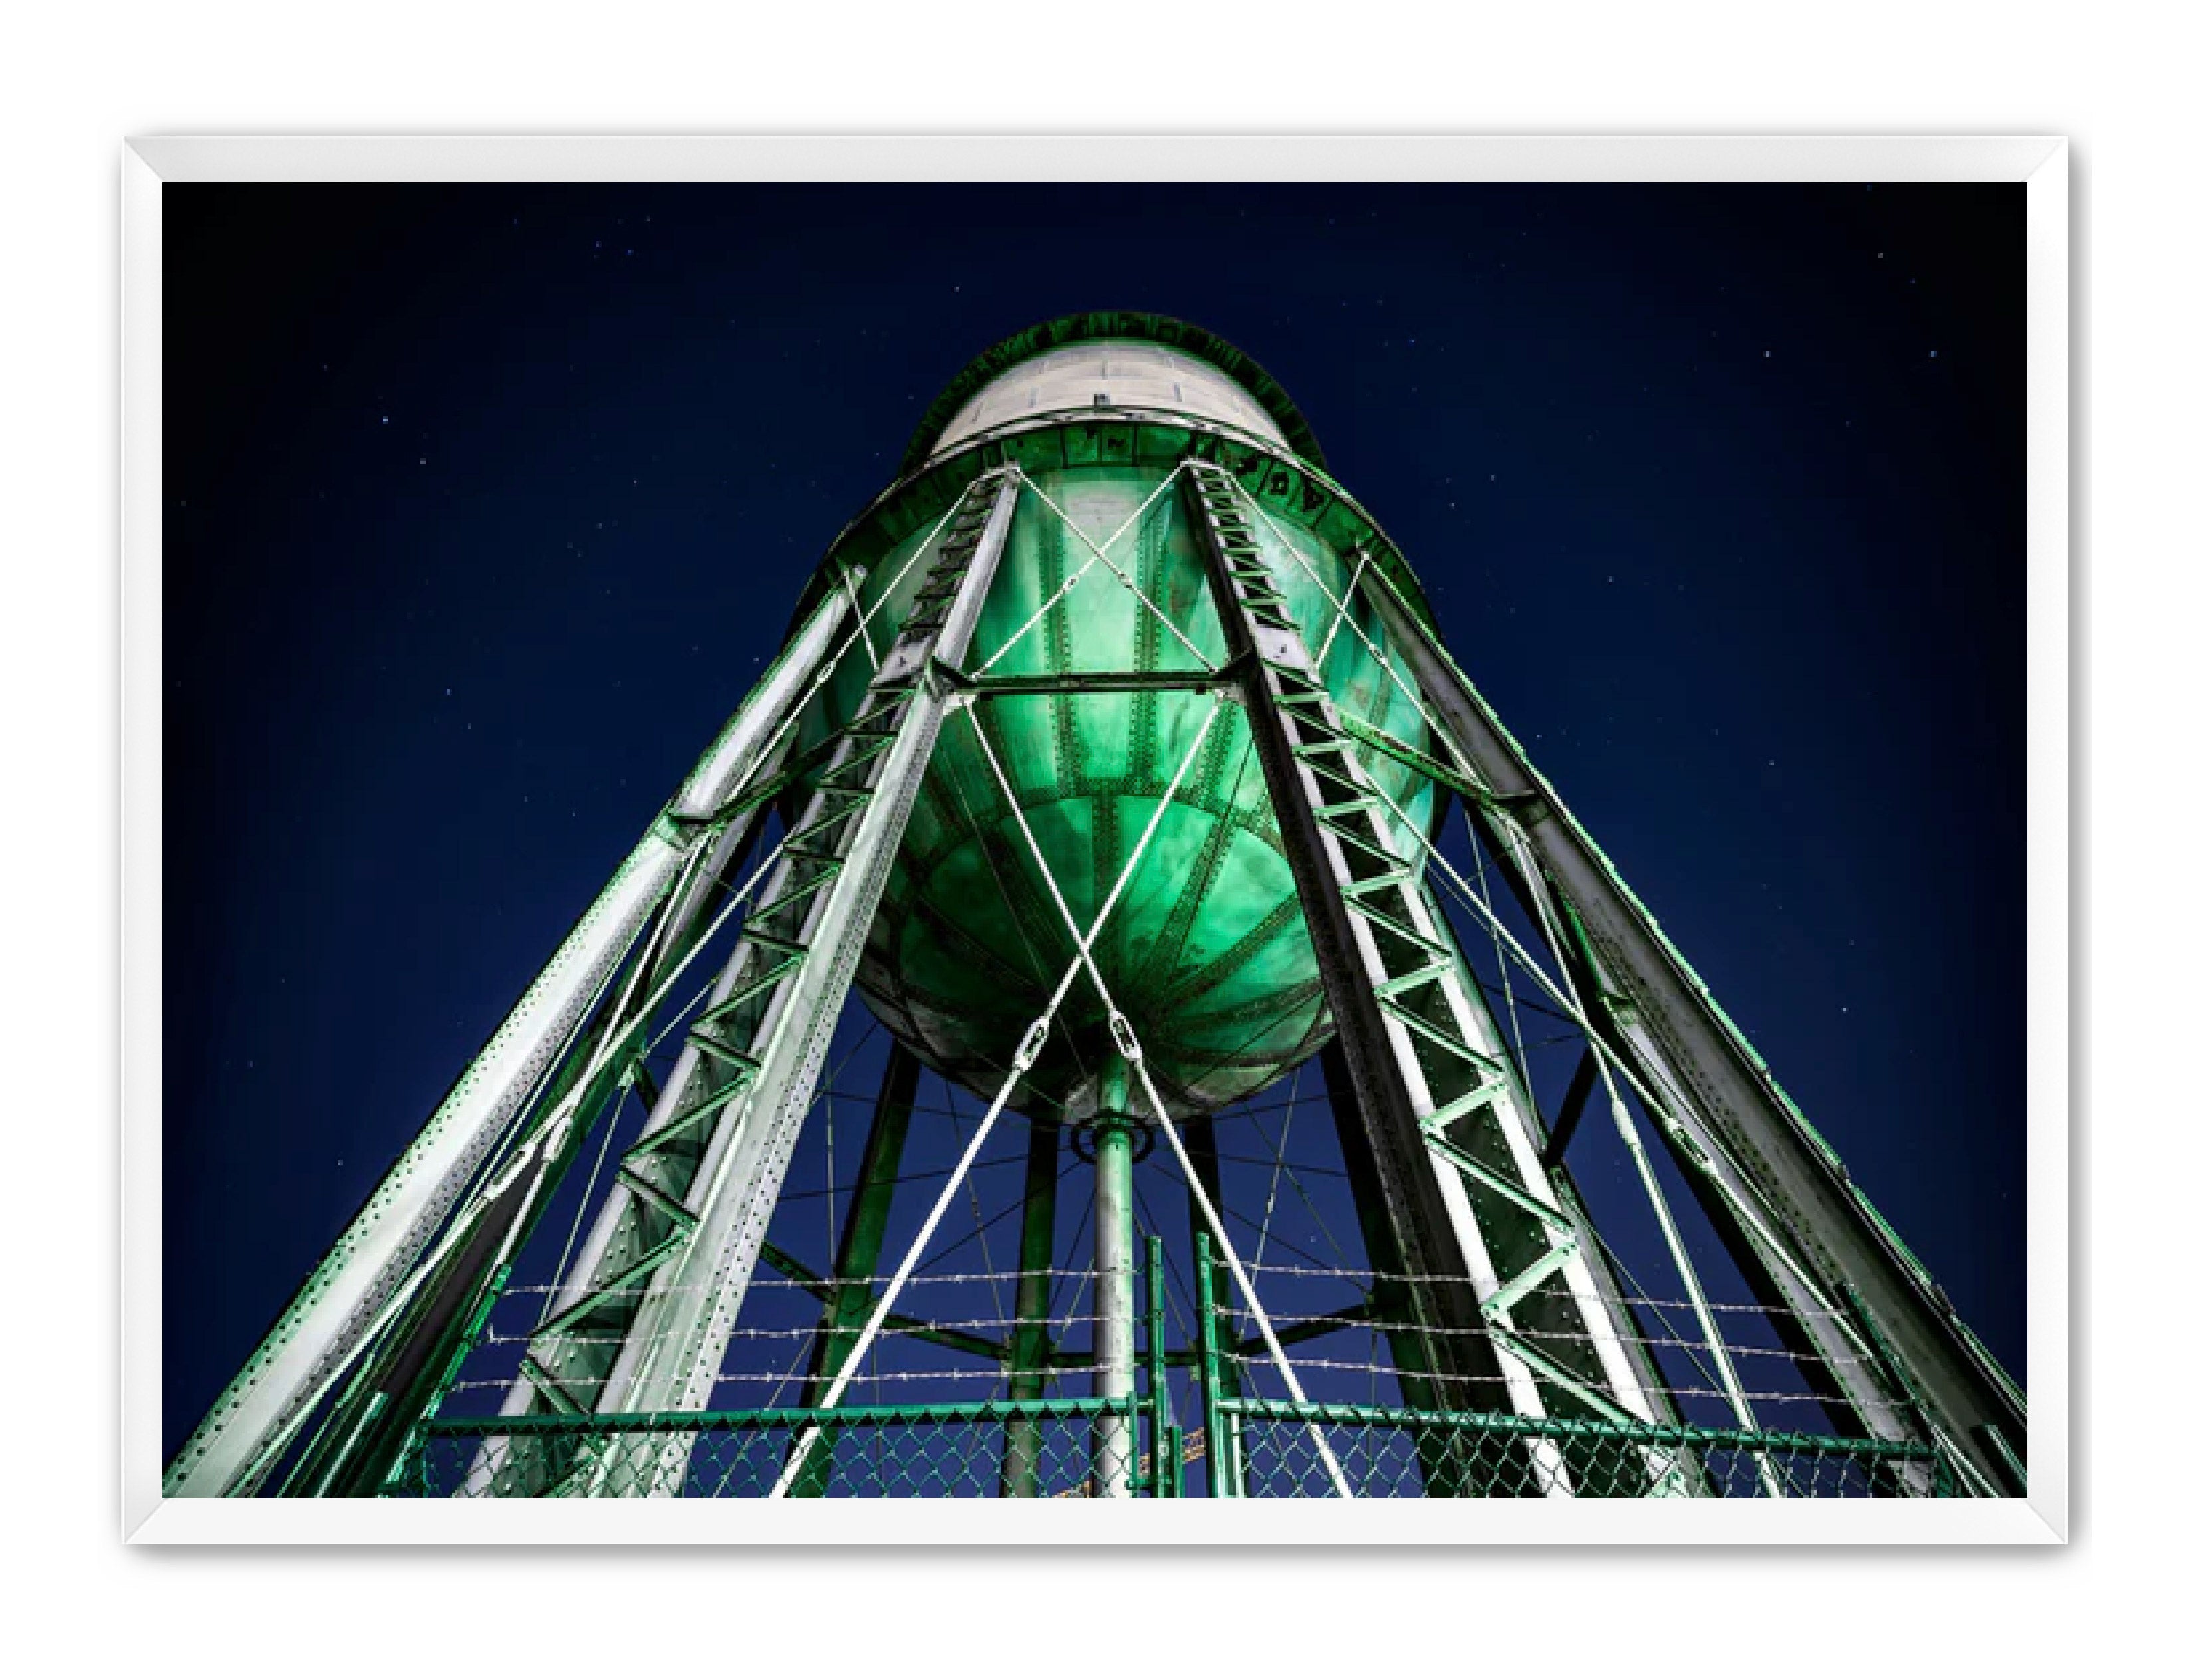
POLYGON ((131 1536, 2064 1538, 2066 179, 131 142, 131 1536))

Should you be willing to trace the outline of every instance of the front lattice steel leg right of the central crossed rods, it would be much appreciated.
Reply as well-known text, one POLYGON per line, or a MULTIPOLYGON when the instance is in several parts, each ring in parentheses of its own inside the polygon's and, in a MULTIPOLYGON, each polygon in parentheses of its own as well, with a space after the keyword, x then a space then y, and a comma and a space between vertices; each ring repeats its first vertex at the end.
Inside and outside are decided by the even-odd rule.
MULTIPOLYGON (((1445 1407, 1646 1418, 1434 899, 1383 814, 1221 468, 1186 481, 1219 615, 1353 1074, 1403 1286, 1445 1407)), ((1565 1485, 1539 1450, 1537 1485, 1565 1485)), ((1508 1488, 1521 1492, 1521 1488, 1508 1488)))

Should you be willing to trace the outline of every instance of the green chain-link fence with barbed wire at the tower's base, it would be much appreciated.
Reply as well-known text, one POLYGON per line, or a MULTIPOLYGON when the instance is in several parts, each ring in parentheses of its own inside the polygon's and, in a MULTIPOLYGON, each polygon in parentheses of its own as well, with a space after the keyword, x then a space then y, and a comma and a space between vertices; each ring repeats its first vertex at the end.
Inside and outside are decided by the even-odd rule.
MULTIPOLYGON (((1609 1398, 1598 1415, 1556 1418, 1381 1404, 1375 1385, 1401 1374, 1379 1339, 1405 1326, 1386 1323, 1373 1295, 1351 1308, 1281 1315, 1272 1341, 1221 1299, 1206 1242, 1195 1262, 1193 1310, 1182 1315, 1189 1334, 1171 1354, 1162 1249, 1149 1240, 1130 1393, 965 1398, 972 1380, 1000 1387, 1005 1343, 965 1323, 893 1317, 891 1369, 869 1365, 860 1374, 871 1385, 869 1404, 784 1407, 775 1396, 795 1380, 812 1393, 825 1365, 825 1354, 808 1354, 819 1337, 856 1326, 768 1321, 740 1326, 760 1367, 733 1363, 718 1385, 729 1396, 736 1382, 764 1385, 764 1404, 648 1415, 433 1415, 383 1485, 409 1498, 1318 1498, 1340 1488, 1359 1498, 1981 1492, 1918 1431, 1907 1439, 1841 1439, 1797 1428, 1653 1424, 1600 1415, 1609 1398), (1300 1350, 1307 1341, 1316 1348, 1300 1350), (996 1367, 983 1369, 978 1354, 996 1356, 996 1367), (1307 1402, 1256 1391, 1261 1367, 1274 1361, 1340 1393, 1307 1402), (928 1398, 893 1402, 891 1387, 904 1393, 906 1385, 926 1387, 928 1398), (1346 1396, 1346 1387, 1366 1389, 1366 1400, 1346 1396), (1182 1418, 1202 1428, 1186 1433, 1182 1418)), ((1351 1282, 1357 1288, 1359 1280, 1351 1282)), ((1044 1363, 1014 1369, 1011 1380, 1092 1382, 1094 1356, 1062 1345, 1073 1326, 1086 1323, 1075 1306, 1044 1319, 1044 1363)), ((1661 1393, 1686 1398, 1670 1387, 1661 1393)))

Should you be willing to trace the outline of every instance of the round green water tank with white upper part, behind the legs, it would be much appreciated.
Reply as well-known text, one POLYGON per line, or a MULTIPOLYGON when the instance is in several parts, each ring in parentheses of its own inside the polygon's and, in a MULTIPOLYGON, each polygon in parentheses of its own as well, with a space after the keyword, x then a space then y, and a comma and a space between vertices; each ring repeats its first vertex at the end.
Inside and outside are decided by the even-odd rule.
MULTIPOLYGON (((1263 556, 1337 707, 1425 750, 1421 713, 1370 652, 1383 628, 1355 586, 1359 567, 1375 564, 1418 604, 1403 560, 1327 477, 1276 383, 1165 317, 1077 315, 978 357, 814 586, 860 575, 867 632, 887 648, 926 573, 928 538, 963 486, 1009 457, 1024 483, 965 672, 1184 682, 1230 656, 1180 483, 1186 455, 1221 462, 1252 494, 1263 556)), ((867 674, 862 654, 845 658, 806 718, 803 748, 852 715, 867 674)), ((1011 801, 1086 928, 1213 713, 1094 956, 1180 1113, 1239 1102, 1322 1046, 1329 1008, 1237 700, 1191 687, 1016 693, 972 711, 1003 779, 968 711, 954 711, 858 978, 891 1032, 992 1094, 1073 958, 1011 801)), ((1388 755, 1364 750, 1362 761, 1432 831, 1434 785, 1388 755)), ((1081 978, 1016 1105, 1084 1109, 1110 1050, 1108 1015, 1081 978)))

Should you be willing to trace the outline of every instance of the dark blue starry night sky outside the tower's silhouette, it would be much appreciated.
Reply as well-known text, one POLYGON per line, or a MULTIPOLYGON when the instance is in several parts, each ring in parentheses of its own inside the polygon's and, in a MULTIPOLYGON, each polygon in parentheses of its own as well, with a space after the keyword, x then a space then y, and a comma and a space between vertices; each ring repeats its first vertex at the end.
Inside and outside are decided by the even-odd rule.
POLYGON ((1261 361, 2016 1374, 2023 188, 166 188, 197 1422, 976 352, 1261 361))

